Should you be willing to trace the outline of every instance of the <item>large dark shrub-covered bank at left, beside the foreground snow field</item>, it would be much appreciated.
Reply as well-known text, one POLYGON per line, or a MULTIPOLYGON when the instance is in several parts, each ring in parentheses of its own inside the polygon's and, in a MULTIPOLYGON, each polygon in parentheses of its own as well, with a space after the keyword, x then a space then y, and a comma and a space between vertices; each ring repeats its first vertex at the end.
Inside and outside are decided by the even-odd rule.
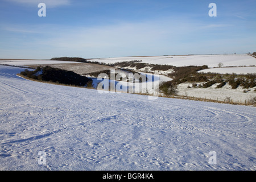
POLYGON ((52 68, 49 66, 43 68, 38 67, 35 71, 25 70, 20 72, 20 75, 24 75, 26 77, 40 81, 51 81, 60 84, 76 86, 85 86, 88 81, 92 81, 92 79, 78 75, 75 72, 66 71, 59 68, 52 68))

